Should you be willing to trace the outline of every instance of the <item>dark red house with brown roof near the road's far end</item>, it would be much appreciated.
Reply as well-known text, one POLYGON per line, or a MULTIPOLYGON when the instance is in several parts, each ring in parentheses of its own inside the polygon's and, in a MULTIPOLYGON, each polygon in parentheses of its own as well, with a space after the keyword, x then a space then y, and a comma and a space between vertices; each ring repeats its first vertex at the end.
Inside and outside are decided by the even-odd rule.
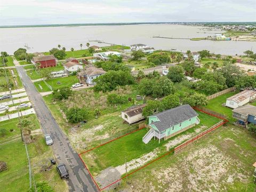
POLYGON ((31 62, 34 65, 36 65, 38 62, 41 63, 40 68, 55 67, 57 65, 57 59, 54 57, 54 55, 42 55, 33 57, 31 62))

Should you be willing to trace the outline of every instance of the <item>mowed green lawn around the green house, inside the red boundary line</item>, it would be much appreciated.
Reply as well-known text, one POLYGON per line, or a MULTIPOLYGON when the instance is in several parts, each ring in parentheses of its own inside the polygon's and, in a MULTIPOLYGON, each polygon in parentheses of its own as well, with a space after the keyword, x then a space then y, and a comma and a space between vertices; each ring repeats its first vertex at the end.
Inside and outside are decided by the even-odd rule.
POLYGON ((163 146, 166 142, 171 141, 179 135, 193 133, 195 129, 201 127, 202 125, 204 125, 204 128, 207 129, 220 121, 220 119, 218 118, 206 115, 199 111, 197 111, 197 113, 199 115, 198 118, 201 120, 201 123, 199 125, 196 125, 185 132, 175 135, 174 137, 167 139, 166 141, 162 139, 161 142, 158 143, 158 140, 152 139, 146 145, 142 142, 142 138, 148 130, 142 129, 132 134, 126 135, 125 137, 107 143, 106 145, 96 148, 89 153, 83 154, 82 158, 84 159, 85 163, 89 162, 89 169, 92 172, 99 173, 101 170, 104 170, 109 166, 115 167, 124 164, 125 159, 127 162, 129 162, 132 159, 139 158, 144 154, 150 153, 158 147, 159 149, 161 149, 161 154, 166 153, 166 148, 163 146), (94 162, 91 161, 90 157, 88 159, 87 155, 94 156, 94 162))

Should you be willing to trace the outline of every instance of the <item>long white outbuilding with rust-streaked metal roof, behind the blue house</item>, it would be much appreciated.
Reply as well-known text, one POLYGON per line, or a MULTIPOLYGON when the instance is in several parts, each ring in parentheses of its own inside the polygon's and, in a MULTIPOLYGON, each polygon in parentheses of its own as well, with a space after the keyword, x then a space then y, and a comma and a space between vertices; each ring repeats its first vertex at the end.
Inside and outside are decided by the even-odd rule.
POLYGON ((226 100, 226 106, 235 109, 239 106, 243 106, 249 103, 251 100, 256 98, 256 91, 254 90, 244 90, 237 93, 226 100))

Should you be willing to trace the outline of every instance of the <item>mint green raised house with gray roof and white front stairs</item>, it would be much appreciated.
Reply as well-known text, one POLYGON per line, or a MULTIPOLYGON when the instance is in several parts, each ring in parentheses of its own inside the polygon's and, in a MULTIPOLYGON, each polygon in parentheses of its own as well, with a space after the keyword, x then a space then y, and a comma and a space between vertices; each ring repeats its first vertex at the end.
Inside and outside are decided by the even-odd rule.
POLYGON ((181 105, 173 109, 165 110, 161 113, 148 117, 150 130, 142 138, 144 143, 148 143, 153 137, 164 140, 173 137, 183 131, 200 123, 198 114, 190 105, 181 105))

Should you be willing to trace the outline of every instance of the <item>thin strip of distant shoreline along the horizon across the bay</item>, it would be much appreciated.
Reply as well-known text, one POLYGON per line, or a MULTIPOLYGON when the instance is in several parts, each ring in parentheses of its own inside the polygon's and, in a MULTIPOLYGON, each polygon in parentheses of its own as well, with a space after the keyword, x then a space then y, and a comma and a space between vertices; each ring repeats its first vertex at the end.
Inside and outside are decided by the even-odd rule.
POLYGON ((15 25, 0 26, 0 28, 28 28, 28 27, 78 27, 78 26, 118 26, 118 25, 143 25, 143 24, 173 24, 173 25, 256 25, 256 22, 122 22, 122 23, 68 23, 68 24, 45 24, 45 25, 15 25))

